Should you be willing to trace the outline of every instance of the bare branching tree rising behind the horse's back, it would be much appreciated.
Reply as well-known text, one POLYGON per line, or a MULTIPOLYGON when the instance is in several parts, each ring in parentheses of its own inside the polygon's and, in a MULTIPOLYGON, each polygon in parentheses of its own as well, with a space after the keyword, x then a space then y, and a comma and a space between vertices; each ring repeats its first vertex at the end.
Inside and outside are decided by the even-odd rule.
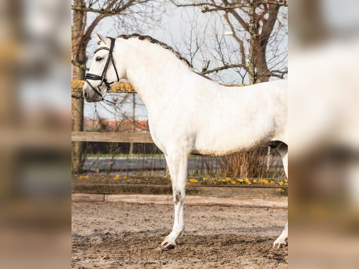
MULTIPOLYGON (((194 0, 188 4, 170 1, 176 6, 195 6, 202 13, 220 14, 236 41, 232 46, 223 38, 223 33, 216 32, 215 44, 211 44, 211 55, 206 56, 202 74, 234 69, 243 80, 248 76, 249 84, 265 82, 270 77, 283 79, 287 74, 287 48, 280 47, 282 39, 287 36, 286 0, 194 0)), ((186 42, 193 43, 188 39, 186 42)))

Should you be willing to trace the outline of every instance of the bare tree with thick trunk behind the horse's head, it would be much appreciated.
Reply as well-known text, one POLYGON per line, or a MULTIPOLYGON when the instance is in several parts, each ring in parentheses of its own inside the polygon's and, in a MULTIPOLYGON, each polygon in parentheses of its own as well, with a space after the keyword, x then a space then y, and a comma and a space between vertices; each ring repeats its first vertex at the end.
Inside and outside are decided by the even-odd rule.
MULTIPOLYGON (((138 30, 140 27, 150 27, 151 23, 160 19, 156 16, 160 10, 159 1, 154 0, 73 0, 72 34, 72 79, 84 80, 87 55, 86 48, 91 34, 99 22, 106 17, 114 20, 114 26, 121 29, 138 30), (88 19, 95 14, 91 23, 88 19)), ((83 98, 81 93, 73 93, 72 131, 83 130, 83 98)), ((82 143, 73 142, 71 160, 73 173, 80 173, 83 166, 82 143)))

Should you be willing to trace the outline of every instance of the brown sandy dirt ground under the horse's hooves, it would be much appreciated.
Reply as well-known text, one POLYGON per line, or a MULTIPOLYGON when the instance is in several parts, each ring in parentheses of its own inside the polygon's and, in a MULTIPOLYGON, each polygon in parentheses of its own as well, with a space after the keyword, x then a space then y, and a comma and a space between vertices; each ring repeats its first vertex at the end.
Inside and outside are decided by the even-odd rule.
POLYGON ((288 268, 272 250, 287 209, 185 205, 185 234, 172 250, 173 206, 72 203, 72 268, 288 268))

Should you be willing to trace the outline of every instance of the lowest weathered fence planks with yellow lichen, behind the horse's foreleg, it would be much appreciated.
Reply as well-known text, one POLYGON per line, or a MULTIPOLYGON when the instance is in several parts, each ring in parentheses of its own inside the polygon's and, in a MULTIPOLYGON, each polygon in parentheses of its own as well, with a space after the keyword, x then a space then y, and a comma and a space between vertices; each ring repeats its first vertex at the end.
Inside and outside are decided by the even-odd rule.
MULTIPOLYGON (((167 176, 72 175, 73 193, 172 194, 167 176)), ((273 198, 288 195, 288 180, 188 177, 186 194, 221 198, 273 198)))

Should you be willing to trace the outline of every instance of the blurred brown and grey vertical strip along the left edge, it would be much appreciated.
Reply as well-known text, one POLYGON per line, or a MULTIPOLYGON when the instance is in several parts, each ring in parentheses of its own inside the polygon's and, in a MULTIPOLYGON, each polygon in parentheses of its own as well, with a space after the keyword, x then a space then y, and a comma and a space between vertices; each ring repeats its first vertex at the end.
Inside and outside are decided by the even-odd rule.
POLYGON ((0 2, 1 268, 65 268, 71 222, 70 1, 0 2))

